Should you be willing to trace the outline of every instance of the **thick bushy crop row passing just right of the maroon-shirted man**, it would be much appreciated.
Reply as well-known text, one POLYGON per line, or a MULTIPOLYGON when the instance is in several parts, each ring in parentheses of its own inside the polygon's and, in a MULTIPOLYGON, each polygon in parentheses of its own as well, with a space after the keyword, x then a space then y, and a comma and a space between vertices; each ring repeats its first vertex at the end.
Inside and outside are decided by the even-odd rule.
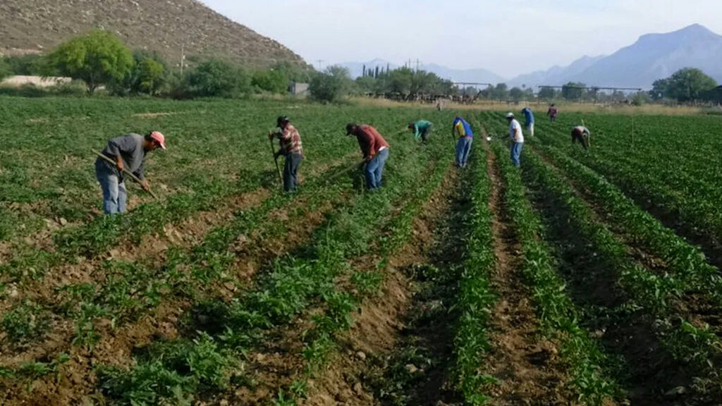
MULTIPOLYGON (((401 150, 396 148, 396 153, 401 150)), ((427 154, 435 157, 431 150, 427 154)), ((334 303, 331 314, 343 321, 352 306, 347 295, 335 292, 334 280, 351 272, 349 258, 370 249, 393 207, 405 206, 413 199, 414 189, 409 186, 423 173, 427 160, 412 156, 403 163, 393 166, 393 172, 389 170, 386 190, 365 194, 348 210, 331 217, 303 250, 305 254, 277 261, 271 272, 259 276, 253 288, 230 303, 209 301, 194 309, 194 313, 212 320, 194 328, 200 332, 151 345, 147 357, 136 359, 136 366, 130 370, 105 371, 105 393, 120 404, 144 405, 173 399, 178 393, 192 397, 222 390, 230 385, 232 371, 243 371, 243 354, 261 342, 270 329, 302 314, 314 298, 328 298, 334 303), (209 353, 197 357, 204 350, 209 353), (178 353, 183 354, 181 359, 178 353), (204 365, 197 365, 196 360, 204 365)))

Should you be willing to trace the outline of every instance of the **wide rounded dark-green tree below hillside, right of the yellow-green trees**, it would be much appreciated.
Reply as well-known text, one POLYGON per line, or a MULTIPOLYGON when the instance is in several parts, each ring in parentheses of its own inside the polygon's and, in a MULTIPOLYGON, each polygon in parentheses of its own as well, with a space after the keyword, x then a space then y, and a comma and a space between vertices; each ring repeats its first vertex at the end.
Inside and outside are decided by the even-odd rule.
POLYGON ((251 81, 238 66, 220 59, 201 62, 191 72, 189 82, 199 96, 233 98, 250 90, 251 81))

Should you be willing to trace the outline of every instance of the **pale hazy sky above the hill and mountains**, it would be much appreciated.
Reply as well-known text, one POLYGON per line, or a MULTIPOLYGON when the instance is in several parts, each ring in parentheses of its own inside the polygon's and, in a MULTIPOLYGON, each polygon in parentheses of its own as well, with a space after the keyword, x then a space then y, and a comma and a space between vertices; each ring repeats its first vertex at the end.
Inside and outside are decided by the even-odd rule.
POLYGON ((506 78, 695 22, 722 33, 720 0, 203 1, 314 66, 419 59, 506 78))

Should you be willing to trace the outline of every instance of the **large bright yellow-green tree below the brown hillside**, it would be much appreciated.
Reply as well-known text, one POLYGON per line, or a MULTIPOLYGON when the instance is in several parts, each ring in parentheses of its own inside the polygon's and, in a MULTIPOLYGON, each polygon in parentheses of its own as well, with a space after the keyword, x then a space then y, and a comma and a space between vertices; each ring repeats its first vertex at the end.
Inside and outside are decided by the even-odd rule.
POLYGON ((84 80, 90 94, 100 85, 122 81, 133 67, 133 56, 123 42, 100 30, 61 44, 50 61, 60 74, 84 80))

